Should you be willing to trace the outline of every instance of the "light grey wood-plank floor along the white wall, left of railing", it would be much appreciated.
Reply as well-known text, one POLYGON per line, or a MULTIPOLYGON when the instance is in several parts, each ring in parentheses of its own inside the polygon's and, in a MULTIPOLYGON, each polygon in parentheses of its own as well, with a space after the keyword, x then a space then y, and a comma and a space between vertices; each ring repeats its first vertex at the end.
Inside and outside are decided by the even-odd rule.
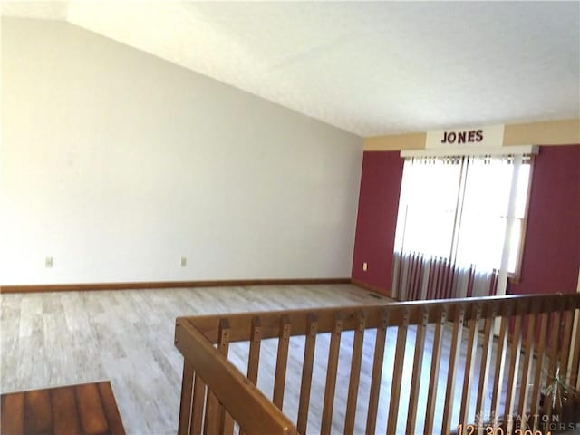
MULTIPOLYGON (((353 285, 0 295, 0 391, 111 380, 127 433, 176 433, 183 363, 173 346, 176 317, 377 301, 353 285)), ((243 353, 239 347, 232 360, 243 353)))

